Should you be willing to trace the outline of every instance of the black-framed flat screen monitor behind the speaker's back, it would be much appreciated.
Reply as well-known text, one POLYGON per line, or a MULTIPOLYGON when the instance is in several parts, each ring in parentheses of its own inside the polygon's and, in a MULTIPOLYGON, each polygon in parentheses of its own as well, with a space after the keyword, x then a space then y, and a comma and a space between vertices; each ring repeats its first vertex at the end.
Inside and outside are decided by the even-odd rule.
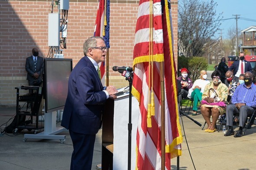
POLYGON ((71 71, 72 59, 44 59, 43 87, 46 113, 64 108, 71 71))

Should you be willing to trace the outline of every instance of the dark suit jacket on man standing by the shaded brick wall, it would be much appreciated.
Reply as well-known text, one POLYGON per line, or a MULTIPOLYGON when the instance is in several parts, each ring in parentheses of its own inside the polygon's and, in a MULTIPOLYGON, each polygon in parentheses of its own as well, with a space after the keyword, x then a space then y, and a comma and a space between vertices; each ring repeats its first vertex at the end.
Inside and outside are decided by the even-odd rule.
MULTIPOLYGON (((37 56, 37 60, 36 60, 36 72, 39 74, 38 79, 42 80, 43 75, 42 75, 42 68, 44 67, 44 62, 43 62, 43 57, 39 57, 37 56)), ((27 72, 27 76, 26 76, 26 80, 36 80, 33 77, 33 74, 35 73, 35 63, 34 63, 34 59, 33 59, 33 55, 31 55, 30 57, 26 58, 26 72, 27 72)))

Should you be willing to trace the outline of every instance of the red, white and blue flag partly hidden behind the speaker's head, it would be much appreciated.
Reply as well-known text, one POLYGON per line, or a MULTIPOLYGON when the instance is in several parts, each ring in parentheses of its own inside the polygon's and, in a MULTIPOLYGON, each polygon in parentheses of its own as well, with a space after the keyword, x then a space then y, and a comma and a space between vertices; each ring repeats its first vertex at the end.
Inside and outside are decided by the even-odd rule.
MULTIPOLYGON (((105 40, 107 48, 109 46, 109 16, 110 16, 110 0, 99 0, 97 16, 95 21, 94 36, 101 36, 105 40)), ((107 56, 108 57, 108 56, 107 56)), ((98 64, 101 76, 102 84, 105 83, 105 62, 98 64)))

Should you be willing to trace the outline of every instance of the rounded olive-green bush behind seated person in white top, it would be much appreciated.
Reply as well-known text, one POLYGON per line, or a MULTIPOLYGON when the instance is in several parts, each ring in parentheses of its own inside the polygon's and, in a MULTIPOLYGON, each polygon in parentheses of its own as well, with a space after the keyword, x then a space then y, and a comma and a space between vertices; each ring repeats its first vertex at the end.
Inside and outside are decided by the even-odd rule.
POLYGON ((207 70, 208 62, 203 57, 193 57, 188 62, 188 70, 190 71, 190 79, 194 82, 200 76, 201 70, 207 70))

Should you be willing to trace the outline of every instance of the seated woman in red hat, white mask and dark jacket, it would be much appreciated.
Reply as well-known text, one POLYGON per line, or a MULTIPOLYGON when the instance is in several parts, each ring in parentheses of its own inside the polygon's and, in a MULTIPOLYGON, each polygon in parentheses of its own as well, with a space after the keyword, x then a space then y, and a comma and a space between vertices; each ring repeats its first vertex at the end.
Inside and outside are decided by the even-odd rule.
POLYGON ((181 93, 178 95, 178 104, 179 108, 181 106, 181 100, 182 98, 186 98, 188 94, 188 90, 193 86, 192 80, 187 77, 188 75, 187 68, 181 69, 181 76, 177 78, 177 80, 181 81, 181 93))

